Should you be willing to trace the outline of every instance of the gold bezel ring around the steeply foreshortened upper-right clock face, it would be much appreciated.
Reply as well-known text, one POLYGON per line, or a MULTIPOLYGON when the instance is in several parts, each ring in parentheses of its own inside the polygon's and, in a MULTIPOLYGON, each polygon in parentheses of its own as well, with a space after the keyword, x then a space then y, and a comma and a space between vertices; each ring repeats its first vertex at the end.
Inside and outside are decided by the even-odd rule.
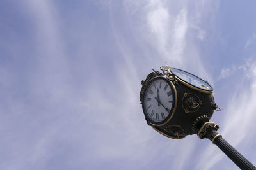
POLYGON ((177 68, 170 68, 170 72, 175 75, 175 77, 177 78, 178 81, 180 81, 180 83, 190 87, 191 89, 197 90, 199 92, 203 92, 205 94, 212 94, 212 92, 214 91, 213 87, 207 81, 205 81, 202 78, 196 76, 195 74, 189 73, 188 71, 184 71, 182 69, 178 69, 180 71, 184 71, 185 73, 191 74, 191 75, 195 76, 196 78, 204 81, 205 83, 207 83, 207 85, 209 85, 211 87, 212 90, 201 89, 200 87, 196 87, 195 85, 192 85, 191 83, 189 83, 189 82, 187 82, 185 80, 182 80, 182 78, 179 78, 179 76, 177 76, 175 73, 173 73, 172 69, 177 69, 177 68))

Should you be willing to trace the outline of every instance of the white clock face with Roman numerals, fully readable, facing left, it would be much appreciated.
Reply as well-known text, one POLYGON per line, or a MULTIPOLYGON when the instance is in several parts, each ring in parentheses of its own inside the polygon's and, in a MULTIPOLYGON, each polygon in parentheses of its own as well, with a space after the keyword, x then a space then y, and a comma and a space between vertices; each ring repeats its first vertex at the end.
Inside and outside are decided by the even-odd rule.
POLYGON ((172 115, 175 94, 171 83, 164 78, 155 78, 145 90, 143 111, 148 121, 163 124, 172 115))

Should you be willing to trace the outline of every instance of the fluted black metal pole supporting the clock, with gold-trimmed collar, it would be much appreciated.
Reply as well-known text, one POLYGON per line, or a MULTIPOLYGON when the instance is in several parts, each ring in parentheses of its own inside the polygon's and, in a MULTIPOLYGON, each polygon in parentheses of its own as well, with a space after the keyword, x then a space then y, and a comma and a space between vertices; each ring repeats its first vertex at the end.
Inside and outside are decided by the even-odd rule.
POLYGON ((241 153, 239 153, 233 146, 231 146, 221 134, 217 132, 219 126, 212 122, 205 122, 199 129, 197 135, 200 139, 210 139, 212 143, 216 144, 240 169, 256 170, 256 167, 247 160, 241 153))

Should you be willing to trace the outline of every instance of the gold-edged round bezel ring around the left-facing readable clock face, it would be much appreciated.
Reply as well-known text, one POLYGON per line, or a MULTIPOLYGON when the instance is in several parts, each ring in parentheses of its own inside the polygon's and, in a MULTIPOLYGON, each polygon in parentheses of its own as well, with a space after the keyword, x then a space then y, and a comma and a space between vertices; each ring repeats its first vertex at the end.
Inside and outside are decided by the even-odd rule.
POLYGON ((143 94, 143 100, 142 100, 142 109, 143 109, 143 113, 145 115, 145 118, 146 120, 152 124, 152 125, 156 125, 156 126, 162 126, 164 124, 167 124, 168 122, 170 122, 170 120, 172 119, 175 111, 176 111, 176 108, 177 108, 177 90, 175 88, 175 85, 173 85, 172 81, 168 80, 165 76, 156 76, 154 78, 152 78, 148 83, 147 85, 145 85, 145 93, 143 94), (145 95, 146 95, 146 92, 147 92, 147 89, 148 89, 148 86, 155 80, 157 79, 161 79, 161 80, 164 80, 166 81, 166 83, 168 83, 168 85, 170 86, 170 88, 172 89, 172 92, 173 92, 173 104, 172 104, 172 108, 171 108, 171 111, 169 112, 169 115, 168 117, 164 118, 163 121, 161 122, 154 122, 153 120, 151 120, 149 117, 148 117, 148 114, 147 114, 147 109, 145 108, 145 95))

